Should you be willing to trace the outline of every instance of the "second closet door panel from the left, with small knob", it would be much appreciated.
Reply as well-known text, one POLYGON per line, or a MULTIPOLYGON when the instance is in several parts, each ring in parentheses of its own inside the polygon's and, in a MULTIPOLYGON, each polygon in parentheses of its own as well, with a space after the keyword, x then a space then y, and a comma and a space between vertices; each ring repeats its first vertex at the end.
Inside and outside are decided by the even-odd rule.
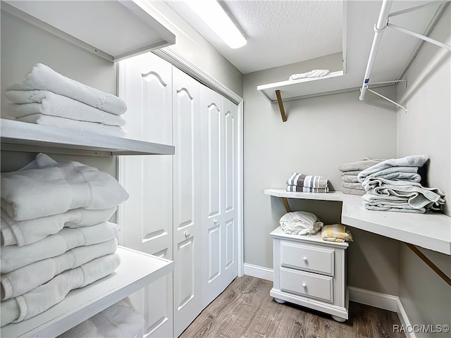
POLYGON ((200 84, 173 68, 174 336, 202 311, 200 84))

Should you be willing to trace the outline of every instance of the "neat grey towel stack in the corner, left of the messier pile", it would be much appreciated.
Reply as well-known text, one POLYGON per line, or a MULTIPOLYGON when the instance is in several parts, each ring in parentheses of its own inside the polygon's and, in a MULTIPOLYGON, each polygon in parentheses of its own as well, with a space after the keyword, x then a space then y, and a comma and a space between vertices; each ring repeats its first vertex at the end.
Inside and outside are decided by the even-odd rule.
POLYGON ((357 175, 366 169, 375 165, 383 160, 371 160, 369 158, 364 158, 362 161, 343 163, 338 165, 338 170, 341 172, 342 187, 341 191, 343 194, 351 195, 364 195, 365 189, 362 183, 357 179, 357 175))

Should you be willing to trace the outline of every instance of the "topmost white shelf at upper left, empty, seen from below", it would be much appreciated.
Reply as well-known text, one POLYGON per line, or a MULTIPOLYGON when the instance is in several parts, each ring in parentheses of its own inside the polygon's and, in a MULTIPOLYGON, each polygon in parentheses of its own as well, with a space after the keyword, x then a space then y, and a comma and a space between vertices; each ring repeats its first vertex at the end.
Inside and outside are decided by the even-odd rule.
POLYGON ((1 1, 1 9, 108 61, 175 43, 135 1, 1 1))

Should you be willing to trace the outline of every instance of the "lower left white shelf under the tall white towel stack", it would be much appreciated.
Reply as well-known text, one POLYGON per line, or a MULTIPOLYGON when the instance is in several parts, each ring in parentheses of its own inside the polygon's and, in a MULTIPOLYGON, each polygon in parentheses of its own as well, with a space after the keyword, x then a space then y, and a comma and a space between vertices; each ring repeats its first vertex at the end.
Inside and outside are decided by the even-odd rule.
POLYGON ((17 324, 1 327, 1 337, 55 337, 145 285, 171 273, 174 262, 118 246, 121 265, 111 275, 69 292, 61 303, 17 324))

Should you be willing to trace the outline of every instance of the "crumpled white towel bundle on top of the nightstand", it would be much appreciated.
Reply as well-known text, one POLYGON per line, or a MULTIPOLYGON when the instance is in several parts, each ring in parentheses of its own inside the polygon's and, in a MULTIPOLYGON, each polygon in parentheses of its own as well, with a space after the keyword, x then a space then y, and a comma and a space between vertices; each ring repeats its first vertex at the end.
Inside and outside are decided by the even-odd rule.
POLYGON ((292 211, 280 218, 280 227, 285 234, 315 234, 321 230, 323 223, 314 213, 292 211))

